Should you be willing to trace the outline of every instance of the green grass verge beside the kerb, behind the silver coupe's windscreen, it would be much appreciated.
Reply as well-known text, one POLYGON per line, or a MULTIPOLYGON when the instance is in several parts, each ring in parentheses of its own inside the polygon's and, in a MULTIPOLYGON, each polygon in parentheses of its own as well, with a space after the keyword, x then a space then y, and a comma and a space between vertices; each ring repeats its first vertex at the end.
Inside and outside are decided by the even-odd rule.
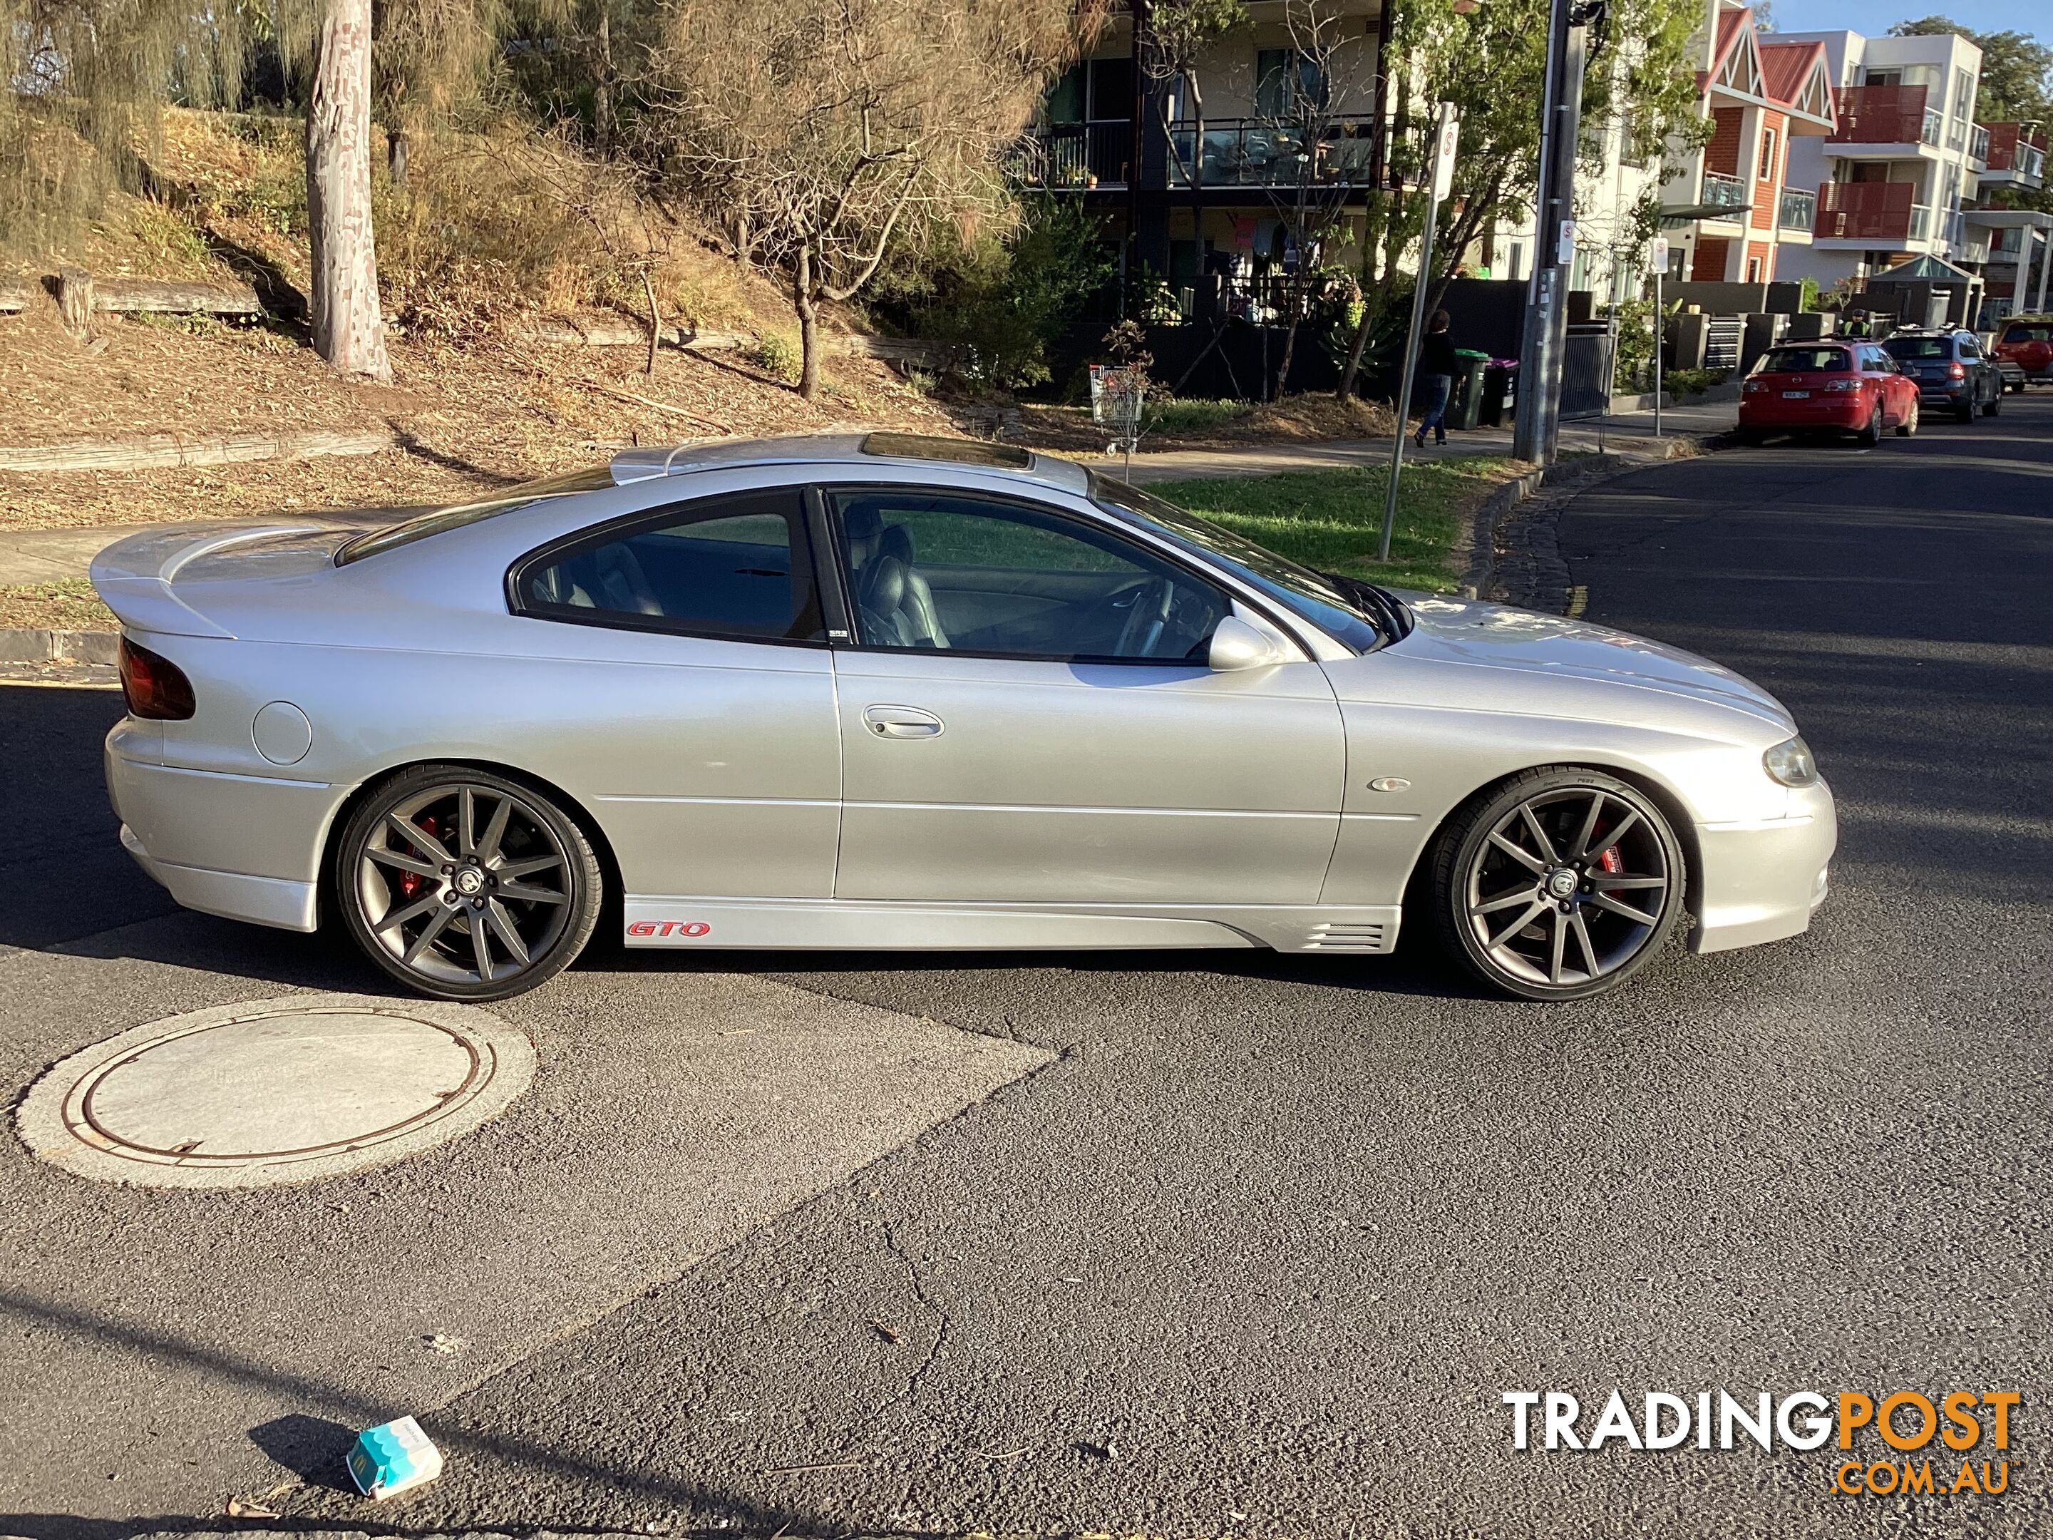
POLYGON ((1386 587, 1451 589, 1447 565, 1462 515, 1517 472, 1511 460, 1415 460, 1398 480, 1390 561, 1376 561, 1390 466, 1289 470, 1234 480, 1170 480, 1148 491, 1248 540, 1328 573, 1386 587))

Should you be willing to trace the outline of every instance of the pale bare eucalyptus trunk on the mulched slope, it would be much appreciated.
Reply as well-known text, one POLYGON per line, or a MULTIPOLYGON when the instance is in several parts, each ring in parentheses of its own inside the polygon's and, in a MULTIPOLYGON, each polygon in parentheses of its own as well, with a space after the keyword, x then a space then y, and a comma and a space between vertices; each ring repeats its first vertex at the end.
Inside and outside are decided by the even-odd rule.
POLYGON ((314 351, 341 374, 390 380, 372 240, 372 0, 328 0, 306 107, 306 224, 314 351))

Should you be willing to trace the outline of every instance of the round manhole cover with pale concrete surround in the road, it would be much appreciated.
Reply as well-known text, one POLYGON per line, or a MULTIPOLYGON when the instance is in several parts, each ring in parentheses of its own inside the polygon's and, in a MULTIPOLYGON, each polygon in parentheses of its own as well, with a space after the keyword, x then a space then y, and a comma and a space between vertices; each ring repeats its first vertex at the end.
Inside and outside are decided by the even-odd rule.
POLYGON ((53 1166, 142 1187, 267 1187, 427 1150, 534 1080, 487 1010, 359 994, 152 1021, 51 1066, 14 1125, 53 1166))

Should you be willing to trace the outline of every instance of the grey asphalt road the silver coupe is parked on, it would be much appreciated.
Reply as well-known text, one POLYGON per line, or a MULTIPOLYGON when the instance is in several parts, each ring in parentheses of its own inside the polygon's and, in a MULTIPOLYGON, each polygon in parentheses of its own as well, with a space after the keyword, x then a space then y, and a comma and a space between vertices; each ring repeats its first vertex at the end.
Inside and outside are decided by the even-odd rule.
MULTIPOLYGON (((0 1257, 35 1242, 0 1353, 37 1388, 6 1425, 62 1425, 74 1454, 39 1439, 0 1460, 0 1532, 203 1519, 296 1470, 308 1483, 273 1499, 289 1515, 406 1532, 2043 1532, 2049 493, 2053 398, 2035 394, 1874 452, 1729 452, 1571 505, 1589 616, 1782 694, 1842 809, 1807 936, 1675 955, 1614 1000, 1478 1000, 1417 951, 735 959, 823 1012, 1051 1057, 955 1094, 924 1131, 901 1119, 897 1148, 844 1158, 852 1175, 817 1195, 766 1193, 702 1255, 663 1228, 653 1156, 608 1214, 612 1179, 579 1152, 651 1119, 638 1037, 667 1053, 733 986, 595 957, 509 1010, 542 1039, 542 1086, 583 1066, 552 1107, 577 1140, 519 1183, 597 1209, 595 1240, 612 1222, 653 1226, 649 1242, 610 1298, 468 1374, 394 1378, 355 1349, 285 1365, 222 1324, 331 1318, 349 1304, 337 1277, 415 1265, 419 1228, 316 1226, 339 1189, 82 1195, 8 1150, 0 1214, 27 1197, 37 1218, 0 1228, 0 1257), (72 1203, 92 1220, 66 1236, 72 1203), (170 1242, 205 1267, 170 1267, 170 1242), (1829 1448, 1515 1452, 1507 1388, 2024 1404, 2006 1495, 1876 1499, 1831 1491, 1829 1448), (304 1411, 281 1417, 294 1396, 304 1411), (246 1441, 181 1439, 201 1402, 216 1421, 248 1407, 246 1441), (415 1411, 450 1466, 372 1509, 335 1489, 333 1460, 380 1411, 415 1411)), ((0 811, 27 832, 0 854, 0 940, 27 949, 0 957, 0 1094, 148 1008, 374 988, 320 940, 150 918, 152 889, 103 856, 90 760, 111 700, 8 690, 0 713, 0 811)), ((489 1224, 468 1185, 493 1170, 454 1152, 359 1187, 446 1203, 446 1253, 489 1224)), ((680 1172, 669 1203, 702 1181, 680 1172)), ((501 1236, 476 1267, 524 1263, 501 1236)), ((448 1287, 497 1298, 491 1279, 448 1287)), ((1934 1450, 1950 1485, 1959 1456, 1934 1450)))

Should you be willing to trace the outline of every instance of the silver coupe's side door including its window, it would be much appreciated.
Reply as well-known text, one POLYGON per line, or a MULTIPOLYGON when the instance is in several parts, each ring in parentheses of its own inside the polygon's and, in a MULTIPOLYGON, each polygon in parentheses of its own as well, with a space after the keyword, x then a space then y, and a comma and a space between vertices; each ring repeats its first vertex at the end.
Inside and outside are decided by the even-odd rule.
POLYGON ((1213 671, 1201 573, 1045 503, 825 489, 852 637, 838 899, 1314 903, 1345 788, 1306 661, 1213 671))

